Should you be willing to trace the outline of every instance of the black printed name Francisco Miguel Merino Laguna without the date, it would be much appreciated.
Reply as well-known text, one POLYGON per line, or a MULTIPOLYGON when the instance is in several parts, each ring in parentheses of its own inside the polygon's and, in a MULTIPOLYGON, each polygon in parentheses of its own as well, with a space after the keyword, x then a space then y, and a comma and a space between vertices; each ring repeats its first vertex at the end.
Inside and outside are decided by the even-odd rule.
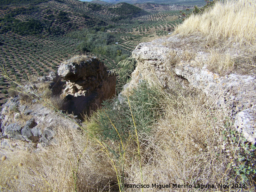
MULTIPOLYGON (((169 183, 169 184, 158 184, 158 183, 152 183, 151 184, 151 188, 200 188, 200 189, 204 189, 204 188, 214 188, 214 185, 203 185, 203 184, 194 184, 194 185, 179 185, 177 183, 169 183)), ((128 184, 128 183, 124 183, 124 188, 150 188, 150 185, 142 185, 142 184, 128 184)))

